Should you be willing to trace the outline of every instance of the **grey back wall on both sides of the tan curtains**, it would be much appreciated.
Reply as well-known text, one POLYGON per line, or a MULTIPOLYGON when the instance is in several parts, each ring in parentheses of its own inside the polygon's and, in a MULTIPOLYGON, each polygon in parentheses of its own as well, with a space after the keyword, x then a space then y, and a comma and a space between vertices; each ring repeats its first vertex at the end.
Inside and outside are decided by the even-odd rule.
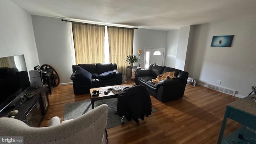
MULTIPOLYGON (((67 23, 60 18, 32 15, 40 65, 49 64, 60 76, 60 84, 71 83, 72 59, 67 23)), ((134 54, 144 47, 166 48, 167 31, 138 28, 134 30, 134 54)), ((144 52, 142 51, 142 64, 144 52)), ((136 64, 138 65, 138 63, 136 64)))

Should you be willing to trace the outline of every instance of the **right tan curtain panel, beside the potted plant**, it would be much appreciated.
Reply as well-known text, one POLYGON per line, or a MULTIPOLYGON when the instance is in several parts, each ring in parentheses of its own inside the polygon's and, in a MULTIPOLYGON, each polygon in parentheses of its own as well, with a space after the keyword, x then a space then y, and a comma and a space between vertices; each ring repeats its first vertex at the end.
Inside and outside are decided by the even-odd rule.
POLYGON ((118 70, 126 76, 129 76, 129 70, 126 68, 126 56, 132 55, 133 48, 133 28, 120 28, 108 26, 108 40, 110 62, 116 63, 118 70))

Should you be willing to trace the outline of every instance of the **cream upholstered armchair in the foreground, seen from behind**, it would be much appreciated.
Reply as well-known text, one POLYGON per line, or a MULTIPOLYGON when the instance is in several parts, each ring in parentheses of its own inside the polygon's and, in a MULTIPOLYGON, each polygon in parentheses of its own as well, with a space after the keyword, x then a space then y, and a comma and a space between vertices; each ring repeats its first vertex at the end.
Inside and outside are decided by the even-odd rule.
POLYGON ((0 136, 23 136, 24 144, 106 144, 108 105, 60 123, 52 118, 50 126, 34 128, 15 118, 0 118, 0 136))

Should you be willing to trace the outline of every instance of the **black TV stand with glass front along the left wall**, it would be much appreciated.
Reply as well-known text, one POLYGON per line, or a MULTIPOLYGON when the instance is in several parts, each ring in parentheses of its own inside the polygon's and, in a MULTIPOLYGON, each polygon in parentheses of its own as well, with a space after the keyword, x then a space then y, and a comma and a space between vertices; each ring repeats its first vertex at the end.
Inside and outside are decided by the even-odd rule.
POLYGON ((11 105, 6 107, 6 112, 12 110, 18 110, 18 114, 15 115, 15 118, 21 120, 32 127, 39 127, 46 112, 49 108, 49 99, 46 86, 39 88, 27 88, 22 92, 17 98, 13 100, 11 105), (22 105, 19 105, 20 97, 24 94, 36 92, 36 95, 27 99, 22 105), (14 107, 14 108, 13 108, 14 107), (9 110, 8 110, 9 109, 9 110))

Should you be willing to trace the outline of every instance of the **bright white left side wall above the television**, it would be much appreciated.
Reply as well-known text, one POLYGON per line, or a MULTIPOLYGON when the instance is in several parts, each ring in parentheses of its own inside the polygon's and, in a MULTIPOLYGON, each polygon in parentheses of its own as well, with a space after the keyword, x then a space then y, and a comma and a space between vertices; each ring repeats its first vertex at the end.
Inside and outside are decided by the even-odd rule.
POLYGON ((24 54, 27 70, 39 64, 31 16, 10 0, 0 1, 0 57, 24 54))

